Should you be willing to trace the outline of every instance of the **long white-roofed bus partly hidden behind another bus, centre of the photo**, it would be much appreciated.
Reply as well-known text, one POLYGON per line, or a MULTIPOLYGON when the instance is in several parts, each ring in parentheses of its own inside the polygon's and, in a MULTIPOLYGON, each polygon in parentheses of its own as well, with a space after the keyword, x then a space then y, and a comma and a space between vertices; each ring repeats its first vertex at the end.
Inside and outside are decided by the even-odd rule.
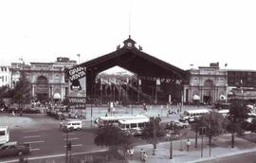
POLYGON ((138 119, 138 118, 147 118, 144 115, 137 115, 137 116, 110 116, 110 117, 101 117, 95 120, 95 123, 98 124, 99 127, 103 127, 105 125, 118 125, 119 120, 125 119, 138 119))

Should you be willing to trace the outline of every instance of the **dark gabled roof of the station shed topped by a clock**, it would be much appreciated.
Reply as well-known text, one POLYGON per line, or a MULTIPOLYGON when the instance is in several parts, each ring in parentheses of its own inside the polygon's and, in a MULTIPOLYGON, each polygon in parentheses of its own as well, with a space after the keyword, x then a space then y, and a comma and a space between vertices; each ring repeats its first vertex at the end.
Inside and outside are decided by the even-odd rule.
MULTIPOLYGON (((81 63, 87 70, 93 70, 94 74, 119 65, 138 76, 156 77, 156 78, 173 78, 181 81, 186 80, 186 71, 164 61, 155 58, 137 49, 135 41, 131 38, 125 40, 121 48, 116 51, 103 55, 94 60, 81 63), (128 45, 132 43, 132 45, 128 45)), ((139 47, 140 48, 140 47, 139 47)))

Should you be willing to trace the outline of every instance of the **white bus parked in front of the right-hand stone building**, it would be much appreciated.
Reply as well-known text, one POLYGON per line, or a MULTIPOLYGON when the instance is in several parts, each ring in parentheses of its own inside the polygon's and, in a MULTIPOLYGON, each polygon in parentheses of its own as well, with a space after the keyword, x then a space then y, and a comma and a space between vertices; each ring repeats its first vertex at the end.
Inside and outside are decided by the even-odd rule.
POLYGON ((195 118, 200 118, 207 113, 210 113, 207 109, 185 110, 179 120, 192 122, 195 118))

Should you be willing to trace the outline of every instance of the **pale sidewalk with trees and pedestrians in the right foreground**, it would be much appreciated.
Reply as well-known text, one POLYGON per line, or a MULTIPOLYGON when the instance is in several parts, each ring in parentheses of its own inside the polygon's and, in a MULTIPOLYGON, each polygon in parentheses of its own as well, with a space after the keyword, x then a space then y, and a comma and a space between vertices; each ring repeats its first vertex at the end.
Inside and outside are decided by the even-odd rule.
POLYGON ((192 145, 190 151, 186 151, 186 141, 173 141, 173 159, 170 159, 170 141, 157 144, 155 155, 152 155, 153 145, 140 145, 135 147, 135 155, 130 163, 141 162, 139 159, 140 149, 143 149, 147 155, 147 163, 183 163, 183 162, 200 162, 209 159, 226 157, 234 154, 244 154, 256 151, 256 145, 240 137, 235 137, 235 148, 230 147, 230 135, 213 138, 212 146, 209 148, 208 137, 203 141, 203 157, 201 157, 201 137, 198 138, 197 148, 194 148, 194 139, 191 139, 192 145), (181 146, 180 146, 181 145, 181 146), (181 148, 180 148, 181 147, 181 148), (182 149, 182 151, 180 151, 182 149))

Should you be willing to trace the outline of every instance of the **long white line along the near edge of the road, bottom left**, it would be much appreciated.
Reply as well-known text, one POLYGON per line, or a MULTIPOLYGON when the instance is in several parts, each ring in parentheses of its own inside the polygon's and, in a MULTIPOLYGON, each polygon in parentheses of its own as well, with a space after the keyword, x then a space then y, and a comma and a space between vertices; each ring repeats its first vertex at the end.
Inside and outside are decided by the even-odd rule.
MULTIPOLYGON (((97 151, 90 151, 90 152, 73 153, 72 155, 93 154, 93 153, 97 153, 97 152, 106 152, 106 151, 107 150, 97 150, 97 151)), ((45 156, 30 157, 30 158, 27 158, 27 160, 29 161, 29 160, 54 158, 54 157, 61 157, 61 156, 65 156, 65 154, 55 154, 55 155, 45 155, 45 156)), ((16 163, 18 161, 19 161, 18 159, 13 159, 13 160, 6 161, 6 163, 16 163)))

